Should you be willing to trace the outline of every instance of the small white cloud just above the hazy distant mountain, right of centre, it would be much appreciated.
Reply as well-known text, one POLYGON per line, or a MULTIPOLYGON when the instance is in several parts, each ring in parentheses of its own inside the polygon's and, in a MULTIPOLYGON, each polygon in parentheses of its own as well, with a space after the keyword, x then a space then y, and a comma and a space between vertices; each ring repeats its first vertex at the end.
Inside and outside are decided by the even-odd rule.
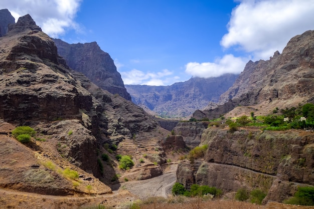
POLYGON ((188 63, 186 73, 202 78, 219 77, 225 73, 239 74, 243 71, 247 61, 247 59, 233 55, 225 55, 223 58, 216 59, 214 63, 188 63))

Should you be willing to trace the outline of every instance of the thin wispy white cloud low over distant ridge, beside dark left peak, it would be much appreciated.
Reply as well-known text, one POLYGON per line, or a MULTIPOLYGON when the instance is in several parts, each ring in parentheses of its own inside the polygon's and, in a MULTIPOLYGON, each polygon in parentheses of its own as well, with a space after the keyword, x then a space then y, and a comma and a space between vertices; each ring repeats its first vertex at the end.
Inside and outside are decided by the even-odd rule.
POLYGON ((149 85, 149 86, 165 86, 177 82, 179 76, 171 76, 173 72, 168 69, 164 69, 160 72, 151 73, 143 72, 137 69, 132 69, 131 71, 121 72, 121 77, 124 84, 129 85, 149 85))

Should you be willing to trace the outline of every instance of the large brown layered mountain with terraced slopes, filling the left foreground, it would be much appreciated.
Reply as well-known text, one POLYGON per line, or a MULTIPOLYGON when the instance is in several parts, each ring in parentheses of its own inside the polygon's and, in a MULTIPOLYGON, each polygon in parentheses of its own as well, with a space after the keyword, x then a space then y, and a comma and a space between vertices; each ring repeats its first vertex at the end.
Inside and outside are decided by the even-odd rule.
POLYGON ((0 38, 0 188, 99 194, 111 192, 107 185, 119 181, 117 173, 130 180, 161 174, 161 142, 170 132, 131 101, 69 68, 57 52, 30 15, 0 38), (37 133, 21 144, 11 132, 25 125, 37 133), (119 169, 116 154, 132 156, 136 167, 119 169), (139 163, 143 154, 147 159, 139 163))

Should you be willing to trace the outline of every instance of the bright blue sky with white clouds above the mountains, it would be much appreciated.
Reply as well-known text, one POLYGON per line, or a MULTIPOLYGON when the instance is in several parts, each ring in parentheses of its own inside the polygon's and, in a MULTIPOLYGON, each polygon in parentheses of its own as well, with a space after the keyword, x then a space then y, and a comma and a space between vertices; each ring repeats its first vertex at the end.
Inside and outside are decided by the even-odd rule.
POLYGON ((240 73, 314 30, 314 0, 2 0, 53 38, 96 41, 124 84, 171 85, 240 73))

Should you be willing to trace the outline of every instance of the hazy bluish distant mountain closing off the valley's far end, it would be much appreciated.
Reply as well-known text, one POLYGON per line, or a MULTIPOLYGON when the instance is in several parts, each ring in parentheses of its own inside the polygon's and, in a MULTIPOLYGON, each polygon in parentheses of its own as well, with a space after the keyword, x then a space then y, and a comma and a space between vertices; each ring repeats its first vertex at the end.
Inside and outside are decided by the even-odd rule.
POLYGON ((217 78, 193 77, 171 86, 125 85, 134 104, 148 112, 171 118, 184 118, 210 102, 218 102, 222 93, 232 86, 238 75, 217 78))

